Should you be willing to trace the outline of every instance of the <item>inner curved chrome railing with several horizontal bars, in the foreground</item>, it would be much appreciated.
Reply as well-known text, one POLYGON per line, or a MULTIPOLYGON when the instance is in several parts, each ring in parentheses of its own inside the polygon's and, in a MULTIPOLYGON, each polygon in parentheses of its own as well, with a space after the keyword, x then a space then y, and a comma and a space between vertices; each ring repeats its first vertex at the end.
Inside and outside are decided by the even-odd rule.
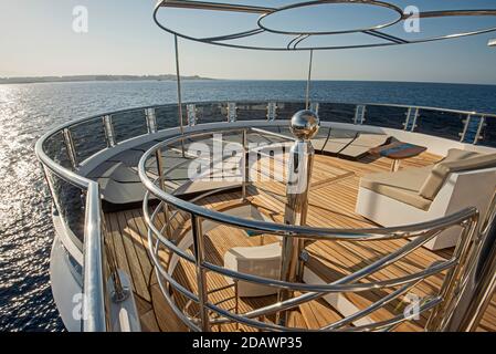
MULTIPOLYGON (((251 129, 246 128, 243 133, 245 136, 251 129)), ((363 292, 371 289, 394 289, 400 287, 400 289, 393 291, 391 294, 384 296, 378 302, 374 302, 370 306, 367 306, 359 313, 347 316, 341 321, 336 323, 329 323, 328 325, 321 327, 323 331, 379 331, 379 330, 392 330, 400 325, 401 323, 408 321, 405 315, 398 315, 390 320, 383 322, 372 322, 369 325, 362 325, 358 327, 349 327, 348 324, 361 319, 378 309, 384 306, 393 300, 397 300, 401 294, 411 290, 419 282, 425 279, 440 274, 447 271, 443 285, 441 287, 437 295, 430 300, 426 300, 424 304, 420 306, 420 312, 426 312, 432 310, 430 320, 426 324, 426 329, 431 331, 442 331, 446 327, 444 320, 448 319, 454 308, 460 293, 460 284, 465 282, 465 277, 474 267, 475 262, 475 250, 476 250, 476 225, 478 221, 478 212, 474 208, 468 208, 462 210, 455 215, 445 217, 443 219, 433 220, 430 222, 424 222, 421 225, 405 226, 400 228, 378 228, 378 229, 323 229, 323 228, 310 228, 306 226, 292 226, 292 225, 279 225, 274 222, 266 222, 260 220, 244 219, 235 217, 232 215, 222 214, 212 209, 207 209, 198 204, 193 204, 183 199, 178 198, 173 192, 166 192, 160 186, 163 186, 163 179, 167 176, 160 174, 154 178, 150 177, 147 169, 147 160, 155 156, 157 150, 166 152, 168 146, 178 144, 182 139, 192 139, 199 137, 209 136, 211 133, 198 133, 186 135, 183 137, 175 137, 167 139, 155 147, 149 149, 143 156, 139 164, 139 176, 145 187, 148 189, 145 200, 144 200, 144 214, 147 221, 148 231, 148 244, 150 248, 150 254, 152 257, 154 263, 158 270, 158 279, 160 288, 162 289, 163 295, 175 313, 181 319, 191 330, 193 331, 209 331, 212 325, 219 325, 223 323, 241 323, 249 326, 253 326, 265 331, 295 331, 305 329, 293 329, 286 325, 279 325, 274 323, 266 323, 255 317, 279 314, 289 309, 294 309, 306 302, 319 299, 329 293, 341 293, 341 292, 363 292), (160 202, 154 211, 149 209, 149 198, 150 195, 157 197, 160 202), (170 240, 170 233, 163 233, 163 228, 166 226, 172 225, 172 218, 170 214, 166 216, 165 227, 160 230, 156 227, 157 217, 165 209, 176 209, 179 212, 189 216, 184 221, 191 227, 192 239, 191 244, 193 253, 189 253, 184 247, 181 248, 172 240, 170 240), (274 280, 262 278, 257 275, 246 274, 238 271, 232 271, 225 269, 222 266, 209 262, 204 258, 204 242, 205 236, 202 231, 202 225, 204 221, 214 221, 219 225, 229 226, 232 228, 247 229, 256 232, 262 232, 266 235, 281 236, 283 238, 297 238, 303 240, 327 240, 327 241, 359 241, 367 242, 371 240, 395 240, 395 239, 411 239, 409 243, 399 248, 398 250, 391 252, 388 256, 373 261, 371 264, 356 271, 347 277, 344 277, 330 284, 307 284, 302 282, 292 282, 284 280, 274 280), (361 282, 361 280, 367 277, 377 273, 378 271, 394 264, 408 254, 412 253, 431 239, 436 237, 440 232, 453 228, 461 227, 462 233, 460 243, 453 254, 453 257, 446 261, 441 261, 430 267, 408 274, 400 278, 392 278, 384 281, 367 281, 361 282), (178 257, 187 262, 194 266, 196 281, 198 285, 198 291, 193 292, 183 284, 180 283, 173 277, 172 269, 166 267, 159 257, 159 251, 165 249, 170 252, 170 257, 178 257), (291 296, 284 299, 279 302, 275 302, 271 305, 256 309, 246 313, 232 313, 221 306, 209 301, 207 293, 207 272, 213 272, 236 281, 246 281, 256 284, 262 284, 266 287, 274 287, 278 290, 287 291, 300 291, 304 294, 298 296, 291 296), (176 302, 176 295, 182 295, 188 301, 192 301, 198 304, 199 317, 191 317, 188 313, 184 313, 176 302), (211 319, 210 313, 217 315, 215 319, 211 319)), ((243 139, 244 140, 244 139, 243 139)), ((167 157, 162 157, 167 159, 167 157)), ((246 166, 246 155, 243 157, 244 162, 241 163, 242 166, 246 166)), ((243 179, 242 184, 245 180, 243 179)), ((244 188, 242 188, 243 190, 244 188)), ((179 228, 184 228, 184 222, 179 228)), ((172 230, 173 232, 175 230, 172 230)), ((170 231, 169 231, 170 232, 170 231)), ((169 257, 169 259, 170 259, 169 257)))

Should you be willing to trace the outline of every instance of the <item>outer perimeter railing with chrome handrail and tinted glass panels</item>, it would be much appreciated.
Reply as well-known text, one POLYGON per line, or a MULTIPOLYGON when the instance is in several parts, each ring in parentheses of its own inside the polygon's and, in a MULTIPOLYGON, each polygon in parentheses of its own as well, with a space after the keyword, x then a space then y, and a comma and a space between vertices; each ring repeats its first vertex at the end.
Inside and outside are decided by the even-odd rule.
MULTIPOLYGON (((231 111, 236 112, 233 116, 229 113, 228 105, 224 103, 217 102, 201 102, 196 104, 188 104, 188 111, 194 112, 194 122, 207 123, 207 122, 228 122, 229 119, 245 119, 256 116, 261 119, 273 121, 275 118, 287 118, 289 112, 294 113, 298 105, 304 106, 303 102, 279 102, 279 103, 260 103, 260 102, 239 102, 231 103, 229 107, 231 111), (263 108, 265 107, 265 108, 263 108), (260 116, 258 116, 260 115, 260 116)), ((356 106, 366 107, 395 107, 404 112, 398 114, 395 121, 398 125, 402 125, 404 129, 415 132, 418 126, 422 126, 422 116, 430 114, 430 112, 435 112, 441 115, 447 115, 448 119, 451 115, 458 115, 465 117, 465 122, 462 124, 460 129, 461 140, 473 143, 473 144, 488 144, 496 146, 496 142, 489 142, 483 138, 484 127, 489 122, 496 122, 495 114, 476 113, 468 111, 455 111, 455 110, 443 110, 435 107, 423 107, 423 106, 407 106, 407 105, 381 105, 381 104, 341 104, 345 108, 333 108, 336 105, 334 103, 316 102, 312 103, 313 110, 320 110, 324 114, 325 121, 338 121, 344 123, 352 123, 356 114, 356 106), (327 111, 326 111, 327 110, 327 111), (327 112, 327 113, 326 113, 327 112), (410 113, 409 113, 410 112, 410 113), (403 117, 403 118, 402 118, 403 117), (476 118, 473 118, 476 117, 476 118), (475 122, 475 123, 474 123, 475 122), (475 125, 474 125, 475 124, 475 125), (472 133, 471 138, 466 137, 466 132, 475 131, 475 135, 472 133)), ((66 247, 67 250, 75 250, 74 252, 78 254, 72 254, 75 259, 82 259, 82 253, 89 252, 86 250, 86 240, 93 238, 94 232, 88 232, 87 229, 91 225, 95 225, 95 220, 89 220, 89 216, 85 210, 96 210, 99 208, 99 198, 96 198, 96 187, 94 181, 85 178, 78 174, 81 166, 84 166, 87 160, 89 160, 95 154, 99 154, 106 149, 112 149, 115 146, 127 142, 129 138, 136 138, 144 136, 146 134, 156 134, 159 131, 167 129, 170 127, 178 126, 176 121, 177 117, 177 105, 168 104, 161 106, 151 107, 139 107, 133 110, 117 111, 108 114, 95 115, 88 118, 82 118, 75 122, 70 122, 55 129, 45 134, 35 146, 35 154, 41 162, 42 168, 45 173, 49 187, 54 200, 55 209, 60 215, 68 215, 72 217, 80 217, 83 220, 75 220, 74 222, 80 223, 83 231, 75 230, 74 222, 64 219, 62 221, 71 233, 78 238, 78 241, 74 240, 71 247, 66 247), (138 124, 138 127, 133 128, 133 124, 128 124, 129 117, 135 117, 131 119, 133 123, 138 124), (141 122, 143 121, 143 122, 141 122), (123 129, 126 134, 123 134, 123 129), (82 198, 86 198, 86 201, 82 204, 81 208, 74 209, 72 202, 64 201, 64 196, 61 196, 61 190, 55 186, 51 178, 56 178, 61 184, 66 184, 74 194, 78 194, 82 198), (94 186, 94 187, 91 187, 94 186), (92 191, 89 192, 89 189, 92 191), (84 206, 84 207, 83 207, 84 206), (63 212, 63 209, 66 212, 63 212)), ((370 112, 367 111, 366 112, 370 112)), ((373 123, 368 119, 367 114, 361 119, 362 124, 373 123)), ((374 118, 372 117, 372 121, 374 118)), ((392 122, 392 121, 391 121, 392 122)), ((382 123, 380 123, 382 124, 382 123)), ((492 123, 490 123, 492 124, 492 123)), ((388 127, 386 122, 384 127, 388 127)), ((433 133, 435 134, 435 132, 433 133)), ((455 134, 450 136, 452 139, 456 139, 455 134)), ((176 201, 175 201, 176 202, 176 201)), ((167 205, 166 205, 167 207, 167 205)), ((199 210, 193 210, 193 212, 199 210)), ((93 212, 92 215, 95 215, 93 212)), ((93 218, 93 217, 92 217, 93 218)), ((98 221, 96 221, 98 222, 98 221)), ((256 229, 256 222, 249 225, 247 227, 256 229)), ((265 226, 267 227, 267 226, 265 226)), ((94 229, 93 229, 94 230, 94 229)), ((285 235, 288 230, 272 230, 277 235, 285 235)), ((358 238, 357 238, 358 239, 358 238)), ((68 240, 68 242, 71 242, 68 240)), ((99 242, 96 242, 99 244, 99 242)), ((105 250, 97 250, 98 252, 105 250)), ((93 249, 91 252, 95 252, 93 249)), ((97 259, 97 257, 94 257, 97 259)), ((102 258, 105 259, 105 258, 102 258)), ((84 264, 81 264, 84 266, 84 264)), ((86 274, 84 275, 86 277, 86 274)), ((89 277, 89 273, 87 274, 89 277)), ((103 289, 103 284, 98 285, 103 289)), ((92 289, 98 289, 98 287, 93 287, 92 289)), ((98 294, 95 294, 98 296, 98 294)), ((96 324, 95 324, 96 325, 96 324)))

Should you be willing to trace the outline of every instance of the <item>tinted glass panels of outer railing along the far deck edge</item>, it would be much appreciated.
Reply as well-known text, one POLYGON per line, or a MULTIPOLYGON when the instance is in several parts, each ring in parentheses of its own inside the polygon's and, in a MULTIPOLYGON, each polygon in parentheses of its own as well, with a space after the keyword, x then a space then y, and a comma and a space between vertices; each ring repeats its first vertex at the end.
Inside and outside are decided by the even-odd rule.
MULTIPOLYGON (((230 119, 287 119, 294 112, 305 106, 304 102, 286 101, 286 102, 238 102, 238 103, 219 103, 219 102, 199 102, 188 103, 189 111, 196 112, 194 122, 230 122, 230 119), (233 107, 231 107, 233 106, 233 107), (229 108, 231 107, 231 108, 229 108), (262 108, 263 107, 263 108, 262 108), (238 112, 231 116, 230 111, 238 112)), ((413 105, 395 105, 395 104, 377 104, 377 103, 329 103, 314 102, 310 105, 314 110, 320 111, 320 117, 327 122, 341 122, 349 124, 371 124, 383 127, 401 128, 409 132, 418 132, 436 135, 440 134, 451 139, 461 140, 469 144, 482 144, 496 146, 496 140, 490 136, 488 140, 485 138, 485 127, 487 124, 496 122, 496 114, 458 111, 429 106, 413 105), (363 107, 361 110, 360 107, 363 107), (359 108, 359 112, 357 110, 359 108), (384 118, 379 118, 379 114, 374 114, 373 110, 399 110, 398 112, 384 112, 384 118), (360 119, 357 119, 357 113, 363 113, 360 119), (456 125, 452 131, 446 133, 447 126, 443 125, 443 129, 435 131, 435 122, 440 119, 456 121, 456 125)), ((150 107, 138 107, 131 110, 116 111, 107 114, 96 115, 84 119, 67 123, 54 129, 52 134, 44 137, 45 143, 50 138, 61 133, 61 137, 56 137, 64 145, 64 153, 73 169, 76 169, 85 159, 97 153, 95 146, 85 146, 85 143, 92 143, 99 147, 99 150, 112 148, 126 138, 133 138, 146 134, 155 134, 157 131, 176 127, 180 125, 177 113, 177 105, 168 104, 150 107), (129 118, 136 116, 134 122, 129 118), (133 124, 135 126, 133 126, 133 124), (87 134, 83 131, 87 129, 87 134), (123 129, 127 133, 124 134, 123 129), (135 131, 133 131, 135 129, 135 131), (130 132, 130 133, 129 133, 130 132), (119 136, 122 135, 122 136, 119 136), (87 153, 86 153, 87 150, 87 153), (91 155, 88 155, 91 154, 91 155)))

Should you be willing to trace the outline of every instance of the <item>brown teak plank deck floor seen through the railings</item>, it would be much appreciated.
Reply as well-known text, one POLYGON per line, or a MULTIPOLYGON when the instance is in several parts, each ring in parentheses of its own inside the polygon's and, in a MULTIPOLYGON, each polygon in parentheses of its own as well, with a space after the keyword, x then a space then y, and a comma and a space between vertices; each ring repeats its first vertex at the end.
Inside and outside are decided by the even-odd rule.
MULTIPOLYGON (((403 160, 402 168, 420 167, 432 164, 437 156, 423 153, 418 157, 403 160)), ((263 164, 263 160, 262 160, 263 164)), ((308 225, 329 228, 362 228, 376 227, 369 220, 355 214, 355 204, 358 192, 358 184, 361 176, 389 170, 391 162, 387 158, 367 157, 359 162, 337 159, 335 157, 316 155, 312 190, 309 196, 308 225)), ((285 186, 277 181, 254 183, 249 188, 250 202, 265 217, 281 222, 284 214, 285 186)), ((208 197, 201 204, 209 208, 219 209, 223 206, 236 204, 240 192, 230 192, 208 197)), ((241 202, 241 201, 239 201, 241 202)), ((150 254, 148 252, 147 227, 140 209, 125 210, 107 214, 107 240, 116 254, 119 268, 126 271, 133 282, 138 312, 144 331, 186 331, 183 325, 172 313, 161 293, 157 281, 150 254)), ((163 222, 163 219, 160 221, 163 222)), ((159 225, 161 226, 161 225, 159 225)), ((265 236, 264 242, 276 242, 272 236, 265 236)), ((325 281, 342 278, 365 266, 371 263, 378 257, 390 253, 403 246, 407 241, 369 241, 369 242, 308 242, 306 249, 310 254, 307 268, 325 281)), ((207 232, 205 257, 215 264, 223 264, 224 253, 232 247, 258 246, 261 237, 247 237, 243 230, 226 226, 219 226, 207 232)), ((368 280, 386 280, 418 271, 432 262, 448 258, 452 250, 433 252, 421 248, 401 262, 390 266, 370 277, 368 280)), ((161 252, 163 262, 168 261, 168 254, 161 252)), ((420 296, 433 294, 439 289, 443 274, 431 277, 420 283, 412 291, 420 296)), ((175 278, 184 287, 197 291, 194 268, 181 260, 175 271, 175 278)), ((366 279, 367 280, 367 279, 366 279)), ((208 273, 209 300, 220 303, 223 309, 234 309, 233 288, 214 291, 228 285, 226 280, 219 275, 208 273)), ((357 309, 362 309, 384 295, 383 290, 374 290, 360 294, 344 294, 346 300, 357 309)), ((176 294, 176 301, 181 305, 186 300, 176 294)), ((240 313, 256 309, 275 301, 275 296, 243 299, 239 301, 240 313)), ((368 316, 370 321, 383 321, 394 314, 399 314, 408 305, 405 299, 395 301, 368 316)), ((190 314, 194 315, 196 305, 189 306, 190 314)), ((428 314, 419 320, 404 323, 398 331, 421 331, 425 324, 428 314)), ((302 329, 318 329, 342 317, 342 314, 324 300, 313 301, 300 305, 291 313, 291 325, 302 329)), ((274 321, 271 316, 263 321, 274 321)), ((213 326, 214 331, 253 331, 244 325, 234 324, 213 326)), ((479 331, 496 331, 496 296, 479 325, 479 331)))

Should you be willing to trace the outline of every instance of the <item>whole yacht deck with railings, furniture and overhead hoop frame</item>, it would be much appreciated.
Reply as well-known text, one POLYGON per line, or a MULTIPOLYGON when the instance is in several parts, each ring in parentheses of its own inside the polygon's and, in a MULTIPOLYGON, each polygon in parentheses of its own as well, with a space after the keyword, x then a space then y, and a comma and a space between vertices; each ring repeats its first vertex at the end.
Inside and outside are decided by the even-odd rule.
MULTIPOLYGON (((408 44, 378 32, 407 19, 395 6, 360 3, 399 19, 351 32, 408 44)), ((285 10, 159 1, 155 15, 179 62, 178 37, 226 45, 274 32, 264 19, 285 10), (167 8, 261 17, 257 30, 194 39, 160 24, 167 8)), ((340 49, 300 46, 334 32, 283 34, 293 41, 270 49, 340 49)), ((183 103, 178 65, 178 104, 38 142, 68 330, 496 330, 496 115, 313 101, 310 77, 305 102, 183 103)))

